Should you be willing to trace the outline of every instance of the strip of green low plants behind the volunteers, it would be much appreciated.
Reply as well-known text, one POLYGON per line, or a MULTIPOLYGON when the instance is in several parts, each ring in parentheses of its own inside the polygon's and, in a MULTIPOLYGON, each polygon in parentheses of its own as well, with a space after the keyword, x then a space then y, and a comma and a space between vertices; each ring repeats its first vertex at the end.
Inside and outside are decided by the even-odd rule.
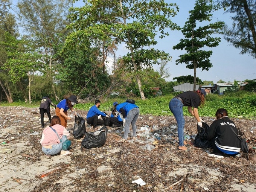
MULTIPOLYGON (((160 96, 155 98, 146 99, 142 101, 140 98, 132 98, 136 101, 136 105, 140 108, 140 114, 151 114, 153 116, 171 116, 172 113, 169 110, 169 102, 177 95, 177 93, 170 94, 168 96, 160 96)), ((113 102, 125 102, 125 99, 102 99, 101 111, 111 111, 113 102)), ((56 102, 55 102, 56 103, 56 102)), ((56 103, 57 104, 57 103, 56 103)), ((94 102, 86 104, 76 104, 75 108, 88 111, 94 102)), ((40 101, 32 102, 28 104, 25 102, 14 102, 9 104, 8 102, 1 102, 0 106, 24 106, 24 107, 38 107, 40 101)), ((226 108, 229 113, 229 117, 244 118, 244 119, 256 119, 256 94, 246 91, 239 91, 237 93, 230 93, 223 96, 216 94, 209 94, 206 96, 206 102, 203 107, 199 107, 200 116, 215 117, 215 113, 219 108, 226 108)), ((187 107, 183 107, 185 116, 190 116, 187 111, 187 107)))

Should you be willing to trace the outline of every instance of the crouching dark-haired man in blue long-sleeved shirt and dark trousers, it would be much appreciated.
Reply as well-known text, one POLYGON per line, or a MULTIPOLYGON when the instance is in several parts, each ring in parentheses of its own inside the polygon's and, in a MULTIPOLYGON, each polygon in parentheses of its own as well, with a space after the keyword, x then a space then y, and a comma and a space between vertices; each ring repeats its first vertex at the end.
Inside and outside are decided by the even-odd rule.
POLYGON ((95 105, 93 105, 93 107, 91 107, 87 113, 86 116, 86 122, 89 125, 92 125, 92 128, 96 129, 97 125, 103 125, 104 124, 104 120, 102 119, 98 119, 98 116, 102 116, 105 117, 106 114, 101 112, 98 108, 101 105, 101 101, 99 101, 98 99, 95 100, 94 102, 95 105))

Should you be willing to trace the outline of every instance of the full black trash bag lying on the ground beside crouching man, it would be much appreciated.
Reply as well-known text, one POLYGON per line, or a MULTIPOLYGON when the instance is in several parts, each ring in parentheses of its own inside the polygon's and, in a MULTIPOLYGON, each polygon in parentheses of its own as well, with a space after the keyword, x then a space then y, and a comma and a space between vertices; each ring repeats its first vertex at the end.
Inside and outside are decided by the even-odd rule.
POLYGON ((88 133, 86 132, 85 137, 82 140, 82 146, 89 149, 89 148, 101 147, 102 145, 104 145, 107 140, 108 128, 106 126, 103 126, 98 131, 88 132, 88 133), (103 130, 105 130, 105 131, 103 131, 103 130), (95 135, 94 133, 99 133, 99 134, 95 135))

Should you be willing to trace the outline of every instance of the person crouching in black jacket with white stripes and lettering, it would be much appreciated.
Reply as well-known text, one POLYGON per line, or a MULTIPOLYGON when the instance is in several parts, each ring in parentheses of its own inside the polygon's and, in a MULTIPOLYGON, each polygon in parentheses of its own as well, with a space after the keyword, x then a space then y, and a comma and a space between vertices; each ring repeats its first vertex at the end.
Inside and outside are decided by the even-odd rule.
POLYGON ((216 120, 207 130, 207 139, 212 141, 213 152, 211 157, 224 158, 223 153, 240 157, 241 144, 235 123, 229 119, 227 110, 220 108, 216 111, 216 120), (235 131, 235 133, 233 132, 235 131))

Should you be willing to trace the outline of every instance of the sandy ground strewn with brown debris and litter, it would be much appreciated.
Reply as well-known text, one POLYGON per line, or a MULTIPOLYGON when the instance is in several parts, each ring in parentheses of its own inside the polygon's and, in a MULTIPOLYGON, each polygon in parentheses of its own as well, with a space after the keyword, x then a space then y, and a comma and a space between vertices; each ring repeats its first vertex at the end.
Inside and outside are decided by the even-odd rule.
MULTIPOLYGON (((83 117, 87 113, 78 112, 83 117)), ((38 108, 0 107, 0 191, 256 191, 255 149, 251 160, 244 155, 209 157, 211 149, 192 143, 196 134, 192 117, 186 117, 187 151, 177 149, 174 117, 147 115, 139 116, 137 129, 142 131, 136 141, 118 143, 122 128, 112 127, 101 148, 85 149, 71 136, 71 155, 47 157, 39 143, 43 129, 38 113, 38 108), (143 130, 146 125, 150 133, 143 130), (52 172, 41 178, 47 170, 52 172), (139 178, 145 185, 133 183, 139 178)), ((212 123, 212 117, 204 119, 212 123)), ((46 125, 48 120, 45 115, 46 125)), ((255 147, 256 120, 232 120, 255 147)), ((68 122, 70 133, 73 126, 74 118, 68 122)), ((92 131, 89 126, 87 131, 92 131)))

